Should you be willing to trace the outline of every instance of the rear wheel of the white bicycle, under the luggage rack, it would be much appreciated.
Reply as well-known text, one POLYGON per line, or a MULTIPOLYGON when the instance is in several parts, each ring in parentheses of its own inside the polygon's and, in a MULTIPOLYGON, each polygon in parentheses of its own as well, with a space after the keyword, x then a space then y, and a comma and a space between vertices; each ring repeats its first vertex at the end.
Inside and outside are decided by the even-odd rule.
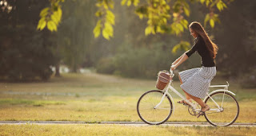
POLYGON ((210 111, 206 111, 207 122, 213 126, 230 126, 238 119, 239 105, 233 95, 220 91, 215 92, 210 97, 205 102, 211 108, 210 111), (216 103, 218 103, 219 108, 216 103))

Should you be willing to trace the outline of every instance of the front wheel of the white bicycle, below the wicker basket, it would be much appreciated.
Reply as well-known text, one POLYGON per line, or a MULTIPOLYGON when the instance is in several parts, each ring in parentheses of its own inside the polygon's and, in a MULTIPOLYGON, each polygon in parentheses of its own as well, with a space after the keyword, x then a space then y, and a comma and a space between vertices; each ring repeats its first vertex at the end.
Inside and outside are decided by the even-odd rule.
POLYGON ((138 99, 137 112, 143 122, 150 125, 159 125, 170 118, 173 105, 170 97, 168 95, 163 97, 163 95, 163 91, 146 91, 138 99), (157 105, 158 107, 156 107, 157 105))

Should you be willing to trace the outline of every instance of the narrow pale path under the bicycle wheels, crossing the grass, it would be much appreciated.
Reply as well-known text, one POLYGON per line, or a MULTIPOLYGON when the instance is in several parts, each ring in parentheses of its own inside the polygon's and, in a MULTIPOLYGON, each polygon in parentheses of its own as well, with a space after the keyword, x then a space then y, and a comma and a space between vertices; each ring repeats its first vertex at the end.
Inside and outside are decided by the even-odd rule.
MULTIPOLYGON (((21 124, 110 124, 110 125, 125 125, 125 126, 150 126, 144 122, 71 122, 71 121, 0 121, 0 125, 21 125, 21 124)), ((208 122, 166 122, 163 126, 211 126, 208 122)), ((229 127, 234 126, 250 126, 256 127, 256 123, 234 122, 229 127)))

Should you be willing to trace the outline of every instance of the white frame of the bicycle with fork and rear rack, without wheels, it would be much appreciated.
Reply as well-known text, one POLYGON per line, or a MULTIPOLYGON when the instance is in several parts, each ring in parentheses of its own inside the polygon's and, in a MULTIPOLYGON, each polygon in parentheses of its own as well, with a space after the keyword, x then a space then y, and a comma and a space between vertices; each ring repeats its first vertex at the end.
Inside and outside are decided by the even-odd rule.
MULTIPOLYGON (((171 73, 170 75, 171 75, 172 77, 174 77, 173 72, 170 71, 170 73, 171 73)), ((201 111, 201 109, 198 109, 198 108, 197 108, 197 104, 191 103, 188 99, 186 99, 186 97, 184 97, 184 96, 183 96, 182 94, 180 94, 174 87, 172 87, 172 86, 170 85, 170 84, 172 83, 172 81, 173 81, 173 80, 170 80, 169 84, 167 84, 166 88, 163 90, 163 91, 164 91, 164 95, 162 95, 161 101, 160 101, 154 108, 158 108, 158 106, 162 104, 162 101, 163 101, 163 99, 166 97, 166 95, 168 95, 168 96, 170 97, 171 101, 174 102, 173 97, 172 97, 172 96, 170 95, 170 93, 168 92, 168 91, 174 91, 174 93, 175 93, 176 95, 178 95, 181 99, 185 100, 186 103, 190 104, 191 107, 193 107, 195 111, 198 111, 198 112, 201 111)), ((227 81, 226 81, 226 83, 227 83, 226 85, 212 85, 212 86, 209 86, 209 87, 224 87, 224 89, 218 89, 218 90, 212 91, 212 92, 210 92, 210 94, 206 93, 206 98, 207 98, 207 97, 210 97, 211 94, 213 94, 214 92, 217 92, 217 91, 224 91, 224 94, 225 94, 225 92, 229 92, 230 94, 235 95, 232 91, 227 90, 230 84, 229 84, 227 81)), ((206 98, 205 98, 203 101, 205 101, 206 98)), ((218 103, 216 103, 215 100, 212 99, 211 97, 210 97, 210 99, 211 99, 211 100, 216 104, 216 106, 218 107, 218 108, 211 108, 210 111, 217 111, 217 112, 221 111, 221 110, 222 110, 222 108, 221 108, 222 106, 220 107, 220 106, 218 105, 218 103)), ((223 100, 224 100, 224 95, 223 95, 223 98, 222 98, 222 104, 223 104, 223 100)), ((174 108, 173 108, 172 110, 174 111, 174 108)))

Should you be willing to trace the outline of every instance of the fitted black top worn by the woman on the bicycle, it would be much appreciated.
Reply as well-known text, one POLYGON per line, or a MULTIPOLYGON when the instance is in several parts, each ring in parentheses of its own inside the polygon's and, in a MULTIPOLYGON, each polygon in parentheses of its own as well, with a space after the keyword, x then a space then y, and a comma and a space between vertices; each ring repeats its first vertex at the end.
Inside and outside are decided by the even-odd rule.
POLYGON ((210 56, 210 52, 206 47, 205 41, 203 41, 202 37, 197 37, 194 39, 194 45, 193 47, 186 52, 187 56, 191 56, 194 52, 198 52, 198 54, 201 56, 201 64, 204 67, 214 67, 214 58, 210 56))

